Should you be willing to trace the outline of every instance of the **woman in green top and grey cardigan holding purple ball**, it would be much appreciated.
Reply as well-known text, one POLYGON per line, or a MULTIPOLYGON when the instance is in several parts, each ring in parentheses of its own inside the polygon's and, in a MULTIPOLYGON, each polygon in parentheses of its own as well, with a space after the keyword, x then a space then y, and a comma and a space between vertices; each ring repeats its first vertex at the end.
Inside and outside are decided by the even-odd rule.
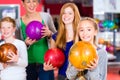
POLYGON ((22 36, 28 48, 28 66, 27 80, 54 80, 53 71, 44 71, 44 54, 48 50, 48 38, 52 33, 56 32, 51 16, 48 13, 37 12, 38 0, 22 0, 23 7, 26 9, 26 14, 21 17, 22 36), (25 28, 31 21, 39 21, 43 25, 42 35, 40 40, 32 40, 26 36, 25 28))

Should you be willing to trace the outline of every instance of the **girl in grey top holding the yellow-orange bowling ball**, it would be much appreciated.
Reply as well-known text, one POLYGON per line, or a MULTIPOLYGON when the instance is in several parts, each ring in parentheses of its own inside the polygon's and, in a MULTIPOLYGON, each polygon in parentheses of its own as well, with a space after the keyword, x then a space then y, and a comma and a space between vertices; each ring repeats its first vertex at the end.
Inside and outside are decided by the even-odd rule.
MULTIPOLYGON (((103 48, 99 48, 96 45, 96 35, 98 32, 97 23, 92 18, 83 18, 80 21, 78 26, 78 35, 81 41, 90 42, 97 50, 98 60, 91 62, 91 65, 88 65, 87 72, 84 76, 86 80, 106 80, 107 74, 107 52, 103 48)), ((77 41, 77 40, 76 40, 77 41)), ((78 73, 81 70, 75 69, 71 64, 69 65, 66 74, 70 80, 78 80, 78 73)))

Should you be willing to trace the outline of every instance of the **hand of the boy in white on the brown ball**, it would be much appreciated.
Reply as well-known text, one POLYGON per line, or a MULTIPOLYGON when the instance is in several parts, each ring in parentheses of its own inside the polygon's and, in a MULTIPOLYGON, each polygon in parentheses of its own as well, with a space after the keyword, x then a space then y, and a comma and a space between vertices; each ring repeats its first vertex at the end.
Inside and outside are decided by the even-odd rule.
POLYGON ((7 57, 10 59, 7 62, 15 62, 15 63, 18 62, 18 52, 17 54, 15 54, 13 51, 9 50, 7 57))

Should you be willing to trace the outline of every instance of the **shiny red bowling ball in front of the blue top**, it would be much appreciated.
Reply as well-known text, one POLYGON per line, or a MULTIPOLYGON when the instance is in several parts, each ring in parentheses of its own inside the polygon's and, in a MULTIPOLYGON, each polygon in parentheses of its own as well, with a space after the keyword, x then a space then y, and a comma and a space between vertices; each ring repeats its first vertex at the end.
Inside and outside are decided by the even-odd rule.
POLYGON ((53 67, 60 68, 65 61, 65 55, 60 49, 52 48, 49 49, 44 56, 45 62, 49 60, 53 67))

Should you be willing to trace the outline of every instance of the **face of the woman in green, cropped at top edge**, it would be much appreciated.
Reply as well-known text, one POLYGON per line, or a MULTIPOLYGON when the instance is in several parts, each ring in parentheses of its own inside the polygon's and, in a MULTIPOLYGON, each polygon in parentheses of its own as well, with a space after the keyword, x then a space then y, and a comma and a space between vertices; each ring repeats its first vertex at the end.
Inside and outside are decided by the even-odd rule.
POLYGON ((24 0, 23 6, 27 12, 35 12, 38 6, 38 0, 24 0))

